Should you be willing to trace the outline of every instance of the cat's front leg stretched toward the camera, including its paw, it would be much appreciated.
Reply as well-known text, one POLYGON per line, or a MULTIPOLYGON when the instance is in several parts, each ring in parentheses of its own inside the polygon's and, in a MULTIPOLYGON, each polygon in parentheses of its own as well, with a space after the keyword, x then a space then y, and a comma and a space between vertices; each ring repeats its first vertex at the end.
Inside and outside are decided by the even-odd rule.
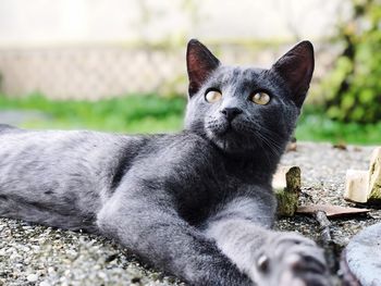
POLYGON ((204 232, 259 286, 330 285, 322 249, 296 233, 271 231, 272 211, 265 202, 258 196, 236 198, 204 232))

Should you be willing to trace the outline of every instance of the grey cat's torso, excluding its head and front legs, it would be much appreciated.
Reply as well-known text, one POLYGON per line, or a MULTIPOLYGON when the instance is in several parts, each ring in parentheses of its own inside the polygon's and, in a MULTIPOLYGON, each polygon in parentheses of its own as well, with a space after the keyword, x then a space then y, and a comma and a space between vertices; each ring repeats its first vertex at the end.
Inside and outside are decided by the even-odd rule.
POLYGON ((269 187, 271 174, 248 176, 214 146, 188 132, 124 136, 14 128, 0 138, 0 215, 66 229, 96 231, 102 206, 122 183, 135 179, 151 188, 160 184, 159 179, 162 184, 171 181, 171 186, 163 189, 176 201, 176 211, 190 224, 200 225, 213 206, 229 199, 241 184, 261 183, 269 187), (199 161, 195 170, 189 167, 192 160, 199 161), (15 208, 22 204, 28 207, 25 213, 15 208))

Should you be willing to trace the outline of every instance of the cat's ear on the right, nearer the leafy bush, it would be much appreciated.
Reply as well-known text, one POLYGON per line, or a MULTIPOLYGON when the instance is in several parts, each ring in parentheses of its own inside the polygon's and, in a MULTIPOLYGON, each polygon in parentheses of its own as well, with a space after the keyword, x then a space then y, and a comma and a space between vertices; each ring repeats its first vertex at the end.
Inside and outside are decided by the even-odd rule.
POLYGON ((297 43, 271 67, 290 87, 292 99, 298 108, 306 98, 314 65, 314 47, 306 40, 297 43))

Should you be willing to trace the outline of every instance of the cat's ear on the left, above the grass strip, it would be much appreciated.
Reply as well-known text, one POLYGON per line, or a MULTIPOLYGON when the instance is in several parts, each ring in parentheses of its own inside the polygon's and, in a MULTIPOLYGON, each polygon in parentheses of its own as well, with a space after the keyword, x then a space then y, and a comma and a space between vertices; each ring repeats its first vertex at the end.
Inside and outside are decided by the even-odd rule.
POLYGON ((198 91, 208 76, 220 65, 220 61, 196 39, 188 42, 186 67, 189 78, 189 97, 198 91))

